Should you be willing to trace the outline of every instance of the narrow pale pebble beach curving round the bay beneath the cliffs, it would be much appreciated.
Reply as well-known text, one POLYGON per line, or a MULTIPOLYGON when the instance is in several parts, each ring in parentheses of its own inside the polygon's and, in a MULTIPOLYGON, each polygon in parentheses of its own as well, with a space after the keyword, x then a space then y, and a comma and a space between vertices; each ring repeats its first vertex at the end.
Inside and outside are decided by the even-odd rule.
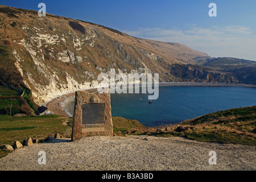
MULTIPOLYGON (((246 86, 255 88, 256 85, 248 84, 226 84, 226 83, 208 83, 208 82, 159 82, 159 86, 246 86)), ((127 84, 129 88, 131 84, 127 84)), ((133 84, 133 86, 141 86, 141 84, 133 84)), ((88 91, 90 93, 97 92, 97 88, 88 88, 81 91, 88 91)), ((68 112, 68 107, 70 107, 70 100, 75 100, 75 92, 69 94, 63 94, 54 98, 46 104, 46 107, 52 111, 53 114, 64 115, 64 117, 72 117, 71 113, 68 112)))

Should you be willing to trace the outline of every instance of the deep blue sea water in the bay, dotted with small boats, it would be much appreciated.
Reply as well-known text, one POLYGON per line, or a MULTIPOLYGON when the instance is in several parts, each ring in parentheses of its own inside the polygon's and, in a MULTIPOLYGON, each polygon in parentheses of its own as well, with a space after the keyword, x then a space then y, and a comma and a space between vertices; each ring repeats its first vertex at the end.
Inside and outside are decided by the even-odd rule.
POLYGON ((145 126, 254 105, 256 88, 240 86, 159 86, 159 97, 152 104, 148 104, 148 94, 111 94, 112 116, 136 119, 145 126))

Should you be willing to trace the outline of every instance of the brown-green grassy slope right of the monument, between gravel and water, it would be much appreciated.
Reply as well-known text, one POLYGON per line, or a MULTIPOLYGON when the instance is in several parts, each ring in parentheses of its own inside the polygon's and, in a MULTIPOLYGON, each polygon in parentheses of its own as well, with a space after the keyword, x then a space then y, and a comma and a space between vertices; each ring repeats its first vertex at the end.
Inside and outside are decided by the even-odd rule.
POLYGON ((256 106, 217 111, 176 125, 149 130, 159 137, 185 137, 203 142, 256 145, 256 106))

